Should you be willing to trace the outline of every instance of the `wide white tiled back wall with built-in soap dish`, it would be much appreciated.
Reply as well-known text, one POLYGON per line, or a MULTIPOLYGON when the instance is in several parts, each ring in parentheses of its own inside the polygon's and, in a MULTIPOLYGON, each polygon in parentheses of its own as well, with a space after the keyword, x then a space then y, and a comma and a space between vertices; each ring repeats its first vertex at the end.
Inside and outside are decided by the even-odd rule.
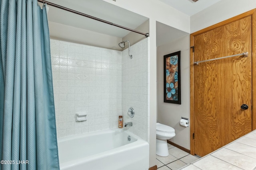
POLYGON ((57 136, 111 129, 122 114, 122 52, 51 39, 57 136), (76 122, 76 113, 87 121, 76 122))

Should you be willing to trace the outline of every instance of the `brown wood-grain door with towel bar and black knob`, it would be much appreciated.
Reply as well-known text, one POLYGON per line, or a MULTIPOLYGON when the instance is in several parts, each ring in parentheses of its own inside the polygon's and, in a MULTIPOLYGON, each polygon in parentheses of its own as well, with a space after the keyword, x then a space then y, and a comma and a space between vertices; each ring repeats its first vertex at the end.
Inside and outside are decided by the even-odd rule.
POLYGON ((251 16, 194 37, 194 153, 204 156, 252 131, 251 16), (248 109, 241 109, 247 104, 248 109))

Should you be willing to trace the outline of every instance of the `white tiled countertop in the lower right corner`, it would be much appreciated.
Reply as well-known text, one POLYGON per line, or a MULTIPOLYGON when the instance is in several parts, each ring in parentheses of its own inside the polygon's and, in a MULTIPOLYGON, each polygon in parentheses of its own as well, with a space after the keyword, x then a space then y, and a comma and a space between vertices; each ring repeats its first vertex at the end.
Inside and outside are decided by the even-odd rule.
MULTIPOLYGON (((256 130, 180 170, 256 170, 256 130)), ((164 170, 164 169, 163 169, 164 170)))

